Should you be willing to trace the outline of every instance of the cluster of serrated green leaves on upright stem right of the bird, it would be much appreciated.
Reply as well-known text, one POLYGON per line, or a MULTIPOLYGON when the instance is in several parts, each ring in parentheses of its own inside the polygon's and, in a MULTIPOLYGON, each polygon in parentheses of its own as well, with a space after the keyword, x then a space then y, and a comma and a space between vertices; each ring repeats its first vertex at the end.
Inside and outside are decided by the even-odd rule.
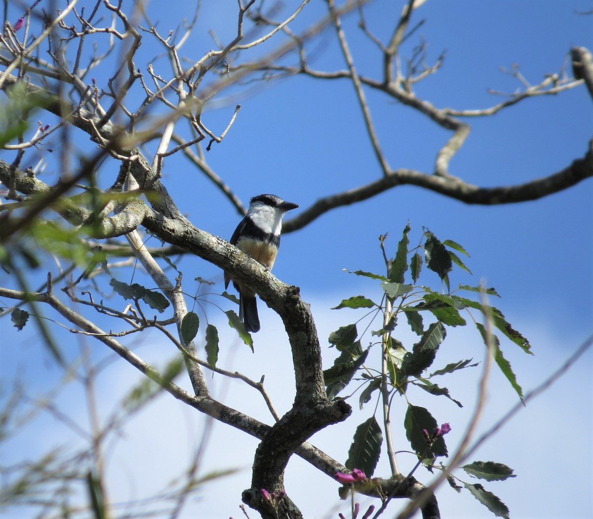
MULTIPOLYGON (((435 465, 437 457, 447 457, 448 450, 444 434, 447 428, 441 426, 431 412, 425 407, 412 403, 413 394, 410 388, 419 388, 435 396, 449 398, 459 407, 461 402, 455 400, 447 387, 437 384, 434 379, 450 375, 462 369, 477 366, 472 359, 460 359, 448 363, 442 368, 431 372, 429 368, 435 362, 439 349, 447 338, 450 328, 463 327, 473 323, 489 355, 508 379, 519 398, 523 397, 522 388, 512 371, 508 360, 503 356, 499 337, 496 333, 508 338, 511 343, 519 346, 525 353, 531 353, 528 340, 515 330, 498 308, 486 302, 486 296, 499 297, 493 288, 459 284, 451 289, 450 276, 455 268, 471 275, 471 271, 460 256, 469 257, 466 249, 453 240, 439 240, 434 233, 423 229, 418 245, 410 246, 410 224, 403 230, 397 245, 396 255, 390 258, 385 250, 385 236, 380 237, 381 250, 385 262, 385 273, 354 271, 356 276, 364 276, 378 285, 381 294, 377 298, 356 295, 342 300, 334 309, 367 309, 365 319, 381 318, 382 325, 371 331, 372 337, 378 340, 363 346, 363 334, 359 334, 359 321, 343 326, 330 334, 329 342, 339 352, 333 366, 324 371, 326 377, 327 396, 335 398, 345 388, 356 381, 359 385, 353 392, 359 392, 359 405, 363 406, 375 398, 375 413, 356 429, 349 450, 346 467, 363 469, 367 476, 374 473, 381 455, 384 433, 390 433, 387 424, 391 422, 390 414, 393 406, 393 395, 399 394, 406 398, 407 411, 403 420, 406 438, 417 457, 416 468, 423 464, 432 471, 439 468, 435 465), (426 275, 436 274, 439 288, 432 289, 420 284, 420 276, 426 267, 426 275), (404 323, 417 336, 417 341, 410 345, 396 337, 397 325, 404 323), (485 324, 484 324, 485 323, 485 324), (373 348, 381 348, 381 366, 369 365, 366 361, 373 348), (383 406, 380 406, 380 400, 383 406), (378 410, 383 409, 383 416, 377 419, 378 410), (380 423, 383 423, 383 430, 380 423)), ((424 277, 424 276, 423 276, 424 277)), ((367 326, 365 330, 368 330, 367 326)), ((390 449, 391 442, 386 442, 390 449)), ((394 452, 390 452, 390 458, 394 452)), ((392 469, 394 467, 392 466, 392 469)), ((474 461, 463 467, 473 477, 489 481, 503 480, 512 476, 512 470, 503 464, 493 461, 474 461)), ((394 470, 394 476, 396 476, 394 470)), ((415 469, 414 469, 415 470, 415 469)), ((410 473, 409 476, 412 474, 410 473)), ((450 482, 452 476, 449 478, 450 482)), ((461 489, 456 484, 454 488, 461 489)), ((479 499, 496 515, 508 517, 508 509, 495 495, 485 490, 482 485, 465 485, 465 488, 479 499)))

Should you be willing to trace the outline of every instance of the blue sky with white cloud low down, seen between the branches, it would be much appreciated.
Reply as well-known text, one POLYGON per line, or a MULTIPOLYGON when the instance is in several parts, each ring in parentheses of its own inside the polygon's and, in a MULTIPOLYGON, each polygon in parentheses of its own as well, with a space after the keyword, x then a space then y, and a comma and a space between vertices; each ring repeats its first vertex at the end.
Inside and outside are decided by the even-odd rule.
MULTIPOLYGON (((195 37, 183 48, 183 53, 192 58, 199 58, 213 46, 207 32, 210 27, 215 27, 223 41, 228 41, 236 30, 233 18, 236 2, 203 4, 195 37)), ((166 12, 161 12, 160 5, 152 2, 148 9, 163 31, 177 24, 181 15, 189 14, 184 12, 187 2, 169 1, 166 12)), ((369 29, 379 37, 387 37, 401 5, 403 2, 371 2, 365 8, 369 29)), ((310 2, 291 28, 303 29, 317 19, 323 8, 323 2, 310 2)), ((535 84, 544 74, 559 71, 572 46, 591 49, 593 17, 575 13, 575 10, 590 9, 591 2, 578 0, 428 1, 414 18, 415 22, 426 18, 426 22, 410 39, 407 50, 422 34, 429 43, 429 62, 443 50, 447 49, 447 53, 444 67, 420 83, 416 92, 439 107, 492 106, 500 97, 487 93, 489 88, 510 92, 520 86, 516 79, 501 72, 500 67, 510 69, 512 64, 518 64, 524 77, 535 84)), ((285 12, 288 12, 286 8, 282 13, 285 12)), ((346 18, 344 23, 356 66, 361 74, 375 75, 380 66, 378 55, 364 39, 357 22, 354 16, 346 18)), ((312 66, 327 70, 345 68, 331 30, 317 37, 313 46, 316 52, 312 66)), ((142 52, 144 56, 155 53, 148 45, 143 46, 142 52)), ((138 66, 145 68, 145 64, 138 66)), ((376 93, 367 92, 367 95, 391 167, 432 171, 436 152, 449 137, 447 132, 408 107, 376 93)), ((307 208, 319 197, 355 188, 381 175, 362 125, 353 87, 347 81, 295 77, 256 84, 248 94, 212 107, 205 115, 206 124, 215 132, 222 131, 237 102, 242 108, 235 124, 221 144, 213 145, 206 159, 245 204, 253 195, 272 192, 307 208)), ((581 86, 558 96, 524 100, 493 117, 468 120, 472 131, 452 160, 451 173, 478 185, 496 186, 557 172, 584 156, 592 137, 592 114, 592 100, 581 86)), ((225 238, 231 236, 240 217, 197 169, 181 157, 170 157, 165 160, 164 183, 178 207, 197 227, 225 238)), ((109 185, 110 178, 104 184, 109 185)), ((452 284, 478 284, 485 280, 488 286, 496 287, 502 299, 493 303, 530 339, 534 357, 508 342, 502 343, 505 356, 511 360, 519 382, 527 391, 546 379, 592 333, 592 195, 593 182, 588 179, 542 200, 482 207, 449 200, 413 186, 401 186, 372 200, 324 214, 304 229, 283 236, 274 273, 286 283, 300 286, 304 300, 311 302, 324 362, 330 365, 334 351, 327 347, 327 335, 340 325, 353 322, 353 317, 347 310, 329 308, 350 295, 364 293, 372 297, 378 293, 368 280, 346 274, 343 269, 379 271, 380 234, 390 233, 388 246, 394 252, 397 236, 407 220, 413 229, 412 242, 419 239, 422 226, 428 227, 441 239, 461 243, 471 254, 467 265, 473 271, 473 278, 459 276, 452 284)), ((197 258, 184 258, 180 265, 187 273, 184 277, 187 292, 192 292, 189 280, 193 276, 218 281, 213 290, 222 290, 222 274, 212 265, 197 258)), ((122 271, 122 280, 127 275, 122 271)), ((39 276, 44 277, 44 273, 39 276)), ((7 274, 0 272, 3 285, 7 278, 7 274)), ((288 344, 279 318, 263 303, 259 307, 263 329, 254 340, 256 352, 252 354, 236 344, 232 334, 221 331, 221 359, 228 369, 239 369, 254 379, 266 374, 270 394, 279 409, 286 410, 293 398, 288 344)), ((208 312, 208 318, 219 325, 219 330, 224 330, 221 315, 215 309, 208 312)), ((43 394, 58 373, 39 346, 39 335, 32 327, 20 333, 7 328, 9 324, 5 321, 7 338, 2 340, 4 347, 0 350, 2 378, 11 381, 19 371, 28 380, 31 391, 43 394), (10 348, 6 347, 8 344, 10 348)), ((55 333, 63 349, 73 352, 74 336, 61 335, 58 329, 55 333)), ((412 341, 405 331, 401 337, 404 343, 412 341)), ((477 334, 456 331, 447 341, 439 365, 460 358, 482 360, 483 349, 479 347, 481 340, 477 334)), ((136 346, 154 362, 173 355, 171 347, 155 335, 136 346)), ((94 344, 95 355, 107 355, 102 348, 94 344)), ((515 479, 484 484, 509 506, 514 519, 576 519, 593 515, 593 455, 588 439, 593 429, 592 367, 589 352, 476 455, 476 459, 500 461, 515 469, 515 479)), ((461 412, 448 401, 426 400, 426 406, 435 409, 433 413, 439 423, 449 421, 452 425, 449 450, 461 438, 473 408, 480 369, 447 379, 445 385, 466 405, 461 412)), ((138 375, 132 368, 114 362, 99 381, 102 413, 106 414, 109 404, 117 401, 125 388, 136 381, 138 375)), ((232 407, 269 421, 257 394, 249 393, 237 382, 214 379, 212 384, 215 394, 225 395, 225 402, 232 407)), ((421 405, 425 401, 423 395, 415 394, 414 398, 421 405)), ((125 437, 113 447, 109 470, 114 478, 111 492, 117 499, 138 498, 143 490, 149 493, 151 485, 156 487, 161 480, 167 482, 174 474, 174 470, 168 470, 187 460, 196 437, 200 437, 204 427, 201 417, 171 400, 160 398, 136 417, 126 429, 125 437), (150 434, 146 432, 149 430, 150 434)), ((515 402, 511 388, 494 373, 482 430, 515 402)), ((76 409, 80 422, 85 422, 84 401, 75 391, 62 393, 60 403, 76 409)), ((356 425, 370 413, 372 406, 365 407, 345 424, 318 433, 311 441, 343 462, 356 425)), ((9 454, 9 458, 16 460, 25 448, 30 448, 31 442, 43 451, 63 441, 64 433, 54 422, 44 419, 47 433, 43 438, 36 436, 36 429, 24 429, 20 439, 2 455, 9 454)), ((396 442, 406 448, 403 431, 396 433, 396 442)), ((203 471, 227 467, 242 470, 229 479, 206 486, 202 501, 192 503, 183 517, 195 517, 192 514, 212 519, 240 517, 240 492, 250 484, 248 467, 256 445, 255 440, 243 433, 215 425, 203 471)), ((387 475, 385 462, 383 457, 376 475, 387 475)), ((406 467, 412 462, 403 457, 401 463, 406 467)), ((337 511, 329 513, 331 507, 339 504, 337 484, 315 472, 301 460, 291 460, 286 488, 297 504, 302 505, 305 517, 337 517, 337 511)), ((428 473, 416 476, 425 483, 431 480, 428 473)), ((452 489, 441 488, 438 498, 443 517, 493 517, 467 492, 457 496, 452 489)), ((344 506, 342 510, 347 509, 344 506)), ((397 510, 397 505, 393 510, 397 510)))

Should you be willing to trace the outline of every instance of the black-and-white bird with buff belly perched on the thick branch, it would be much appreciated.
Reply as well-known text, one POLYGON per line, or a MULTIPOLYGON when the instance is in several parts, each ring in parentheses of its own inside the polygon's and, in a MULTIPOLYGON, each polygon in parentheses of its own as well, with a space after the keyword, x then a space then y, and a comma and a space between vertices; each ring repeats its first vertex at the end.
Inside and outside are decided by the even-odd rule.
MULTIPOLYGON (((266 270, 272 270, 280 246, 282 217, 286 211, 297 207, 298 204, 285 202, 276 195, 263 194, 251 198, 246 216, 232 233, 232 245, 260 262, 266 270)), ((225 271, 225 289, 231 279, 231 275, 225 271)), ((259 331, 255 290, 234 279, 232 284, 239 293, 239 320, 246 331, 259 331)))

